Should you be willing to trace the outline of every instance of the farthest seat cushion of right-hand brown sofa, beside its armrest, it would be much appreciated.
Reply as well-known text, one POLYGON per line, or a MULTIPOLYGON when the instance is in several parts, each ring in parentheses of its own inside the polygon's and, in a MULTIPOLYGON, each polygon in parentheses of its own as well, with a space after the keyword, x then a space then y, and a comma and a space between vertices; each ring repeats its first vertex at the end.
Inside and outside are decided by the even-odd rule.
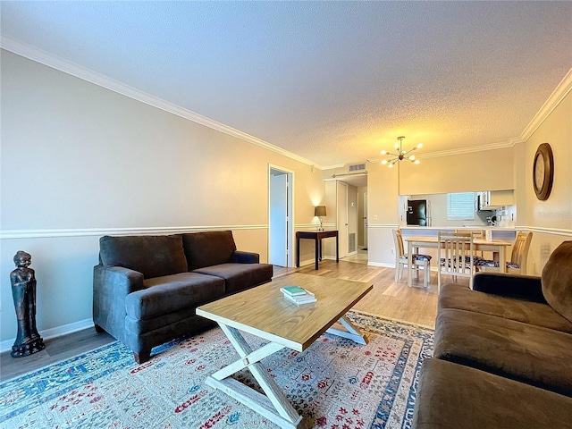
POLYGON ((467 286, 454 283, 445 284, 441 288, 438 313, 444 308, 457 308, 483 313, 484 315, 496 315, 526 324, 535 324, 536 326, 572 333, 572 323, 547 304, 492 295, 470 290, 467 286))

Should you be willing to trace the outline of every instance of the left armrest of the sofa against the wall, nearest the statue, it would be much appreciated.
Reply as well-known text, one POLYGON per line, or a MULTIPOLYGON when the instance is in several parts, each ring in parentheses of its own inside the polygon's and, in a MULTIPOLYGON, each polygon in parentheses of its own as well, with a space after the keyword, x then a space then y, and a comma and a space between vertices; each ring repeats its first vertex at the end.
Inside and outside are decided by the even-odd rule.
POLYGON ((94 266, 94 323, 117 340, 124 341, 125 297, 141 289, 144 289, 142 273, 122 266, 94 266))

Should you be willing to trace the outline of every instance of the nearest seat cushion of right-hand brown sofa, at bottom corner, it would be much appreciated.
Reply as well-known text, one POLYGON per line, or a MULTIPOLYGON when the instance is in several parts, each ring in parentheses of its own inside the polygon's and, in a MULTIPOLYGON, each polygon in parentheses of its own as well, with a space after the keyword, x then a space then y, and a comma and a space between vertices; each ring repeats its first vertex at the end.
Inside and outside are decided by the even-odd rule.
POLYGON ((419 374, 412 429, 572 428, 572 398, 439 359, 419 374))

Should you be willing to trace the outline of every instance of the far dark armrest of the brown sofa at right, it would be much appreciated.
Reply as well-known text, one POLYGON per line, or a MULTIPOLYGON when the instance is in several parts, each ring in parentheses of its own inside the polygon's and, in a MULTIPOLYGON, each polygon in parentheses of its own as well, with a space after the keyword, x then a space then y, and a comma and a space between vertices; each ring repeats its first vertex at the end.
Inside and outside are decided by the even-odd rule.
POLYGON ((546 304, 541 278, 507 273, 476 273, 473 290, 546 304))

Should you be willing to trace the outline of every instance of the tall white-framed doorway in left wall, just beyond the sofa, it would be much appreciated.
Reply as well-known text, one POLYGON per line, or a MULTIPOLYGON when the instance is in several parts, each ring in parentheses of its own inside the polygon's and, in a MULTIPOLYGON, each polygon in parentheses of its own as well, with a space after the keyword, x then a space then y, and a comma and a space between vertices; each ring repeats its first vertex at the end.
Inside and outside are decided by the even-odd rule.
POLYGON ((268 166, 268 264, 293 266, 293 172, 268 166))

